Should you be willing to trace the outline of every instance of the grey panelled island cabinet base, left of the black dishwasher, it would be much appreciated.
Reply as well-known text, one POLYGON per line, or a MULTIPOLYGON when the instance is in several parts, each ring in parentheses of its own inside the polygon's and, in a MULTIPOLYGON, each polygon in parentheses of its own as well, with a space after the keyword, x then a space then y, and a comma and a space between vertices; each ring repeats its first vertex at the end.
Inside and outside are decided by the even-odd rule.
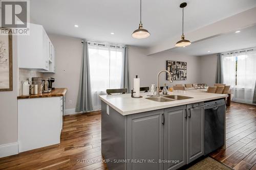
POLYGON ((109 169, 177 169, 204 154, 203 102, 122 115, 101 102, 109 169))

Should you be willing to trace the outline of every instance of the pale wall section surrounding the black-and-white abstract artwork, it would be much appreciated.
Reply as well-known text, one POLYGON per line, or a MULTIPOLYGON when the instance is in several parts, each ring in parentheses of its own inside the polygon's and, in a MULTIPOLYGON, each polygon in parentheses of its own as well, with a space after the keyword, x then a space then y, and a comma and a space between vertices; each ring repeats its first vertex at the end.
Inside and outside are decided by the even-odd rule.
POLYGON ((133 88, 133 78, 136 75, 140 78, 140 86, 149 86, 157 84, 157 74, 166 69, 166 60, 187 62, 187 80, 176 80, 172 84, 166 81, 166 74, 160 75, 160 86, 166 83, 167 86, 185 83, 200 82, 200 57, 188 56, 164 51, 151 56, 147 56, 147 50, 136 46, 130 46, 128 50, 130 64, 130 81, 133 88))

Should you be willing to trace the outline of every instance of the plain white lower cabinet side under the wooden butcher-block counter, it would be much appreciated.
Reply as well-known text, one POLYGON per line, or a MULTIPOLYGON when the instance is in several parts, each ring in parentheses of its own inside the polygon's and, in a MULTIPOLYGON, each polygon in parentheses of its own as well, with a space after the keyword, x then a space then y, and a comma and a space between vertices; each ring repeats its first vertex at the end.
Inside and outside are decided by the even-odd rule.
POLYGON ((19 152, 60 143, 61 97, 18 100, 19 152))

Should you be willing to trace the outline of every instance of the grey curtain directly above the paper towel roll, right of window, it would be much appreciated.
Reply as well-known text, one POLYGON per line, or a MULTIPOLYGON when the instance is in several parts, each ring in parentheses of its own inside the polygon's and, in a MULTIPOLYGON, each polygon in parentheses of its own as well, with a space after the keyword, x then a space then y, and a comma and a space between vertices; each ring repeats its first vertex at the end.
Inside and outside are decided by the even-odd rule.
POLYGON ((128 62, 128 47, 124 48, 124 60, 122 68, 122 79, 121 79, 121 88, 127 88, 127 92, 131 92, 130 87, 130 71, 129 71, 129 62, 128 62))

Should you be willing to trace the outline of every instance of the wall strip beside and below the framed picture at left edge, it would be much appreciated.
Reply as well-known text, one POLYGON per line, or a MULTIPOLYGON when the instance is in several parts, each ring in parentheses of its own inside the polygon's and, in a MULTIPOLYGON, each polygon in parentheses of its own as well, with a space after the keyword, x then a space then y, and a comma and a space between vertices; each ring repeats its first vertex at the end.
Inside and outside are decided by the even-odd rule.
POLYGON ((0 157, 17 153, 17 37, 12 38, 13 90, 0 91, 0 157))

